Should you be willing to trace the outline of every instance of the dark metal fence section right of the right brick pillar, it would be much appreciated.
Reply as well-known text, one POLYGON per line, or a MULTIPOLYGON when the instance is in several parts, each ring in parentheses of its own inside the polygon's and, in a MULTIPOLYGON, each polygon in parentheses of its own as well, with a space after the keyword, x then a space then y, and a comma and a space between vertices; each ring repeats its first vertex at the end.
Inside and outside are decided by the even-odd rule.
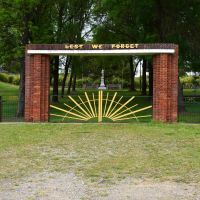
POLYGON ((200 123, 200 96, 185 96, 184 108, 179 111, 179 122, 200 123))

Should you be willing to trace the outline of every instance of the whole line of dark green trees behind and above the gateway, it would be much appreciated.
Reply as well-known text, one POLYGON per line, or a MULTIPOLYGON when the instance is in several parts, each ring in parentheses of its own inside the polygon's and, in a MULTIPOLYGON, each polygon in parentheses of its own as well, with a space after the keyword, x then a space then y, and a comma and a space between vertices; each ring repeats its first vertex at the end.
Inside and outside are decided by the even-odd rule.
MULTIPOLYGON (((0 0, 0 65, 20 73, 18 116, 24 111, 25 47, 30 43, 176 43, 179 74, 198 72, 200 62, 199 0, 0 0)), ((51 58, 53 101, 58 101, 59 65, 64 66, 61 95, 75 90, 80 74, 106 66, 120 73, 128 67, 130 90, 142 63, 142 94, 152 95, 152 59, 143 57, 51 58), (66 80, 71 70, 68 88, 66 80), (82 70, 84 69, 84 70, 82 70), (146 71, 149 72, 148 83, 146 71)), ((96 71, 95 71, 96 70, 96 71)), ((99 69, 98 69, 99 70, 99 69)))

